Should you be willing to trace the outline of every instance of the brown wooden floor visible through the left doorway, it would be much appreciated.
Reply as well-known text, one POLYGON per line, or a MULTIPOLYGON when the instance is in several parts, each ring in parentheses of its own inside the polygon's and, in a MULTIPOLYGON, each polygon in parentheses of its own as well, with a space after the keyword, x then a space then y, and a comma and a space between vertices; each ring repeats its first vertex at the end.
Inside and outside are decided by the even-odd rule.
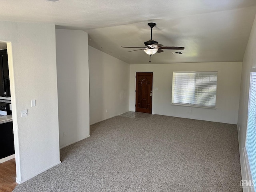
POLYGON ((15 158, 0 164, 0 192, 12 192, 16 187, 15 158))

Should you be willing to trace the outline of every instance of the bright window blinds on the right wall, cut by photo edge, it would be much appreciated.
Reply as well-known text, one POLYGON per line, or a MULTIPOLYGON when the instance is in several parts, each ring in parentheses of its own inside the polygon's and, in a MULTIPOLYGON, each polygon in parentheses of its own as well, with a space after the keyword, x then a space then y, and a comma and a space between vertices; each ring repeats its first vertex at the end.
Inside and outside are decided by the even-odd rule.
MULTIPOLYGON (((246 132, 246 151, 250 164, 252 180, 256 182, 256 72, 251 73, 246 132)), ((256 186, 254 186, 256 191, 256 186)))

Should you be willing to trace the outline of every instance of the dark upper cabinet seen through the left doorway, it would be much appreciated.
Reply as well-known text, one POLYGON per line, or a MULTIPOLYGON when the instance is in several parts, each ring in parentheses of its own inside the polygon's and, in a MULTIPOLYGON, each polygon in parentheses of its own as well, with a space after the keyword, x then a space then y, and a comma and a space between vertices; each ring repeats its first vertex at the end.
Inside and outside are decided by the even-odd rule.
POLYGON ((10 97, 10 78, 7 50, 0 50, 0 96, 10 97))

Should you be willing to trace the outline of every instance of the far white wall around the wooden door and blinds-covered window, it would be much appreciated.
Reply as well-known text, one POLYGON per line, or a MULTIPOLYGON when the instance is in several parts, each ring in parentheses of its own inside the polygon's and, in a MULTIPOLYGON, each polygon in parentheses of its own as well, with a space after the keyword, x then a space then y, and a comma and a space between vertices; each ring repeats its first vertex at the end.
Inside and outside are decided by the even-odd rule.
POLYGON ((130 111, 136 72, 153 72, 152 114, 237 124, 241 69, 242 62, 130 65, 130 111), (216 109, 171 105, 173 71, 218 71, 216 109))

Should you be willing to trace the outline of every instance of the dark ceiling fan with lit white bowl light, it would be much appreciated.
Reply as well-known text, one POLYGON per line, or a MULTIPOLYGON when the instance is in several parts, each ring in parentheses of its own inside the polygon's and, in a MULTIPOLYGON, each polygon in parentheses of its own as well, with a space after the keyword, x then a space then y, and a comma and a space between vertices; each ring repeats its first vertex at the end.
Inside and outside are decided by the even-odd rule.
MULTIPOLYGON (((155 53, 164 52, 163 49, 174 49, 174 50, 183 50, 184 49, 184 47, 164 47, 162 44, 158 44, 157 41, 152 40, 152 28, 154 26, 156 26, 156 24, 148 23, 148 26, 150 26, 150 28, 151 28, 151 38, 150 38, 150 40, 144 42, 146 47, 123 47, 123 48, 140 48, 140 49, 132 50, 132 51, 144 50, 144 52, 146 52, 146 54, 148 54, 150 56, 155 53)), ((132 52, 132 51, 128 51, 128 52, 132 52)))

